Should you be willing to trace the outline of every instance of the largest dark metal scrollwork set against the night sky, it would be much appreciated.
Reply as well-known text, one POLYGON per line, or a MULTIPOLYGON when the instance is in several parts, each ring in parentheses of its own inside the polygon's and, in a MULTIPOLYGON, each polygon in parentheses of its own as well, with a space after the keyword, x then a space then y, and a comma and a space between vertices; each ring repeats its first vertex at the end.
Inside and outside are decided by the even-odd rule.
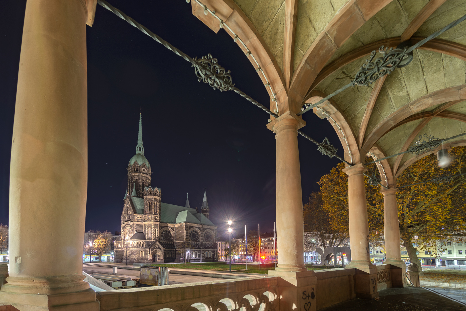
POLYGON ((210 53, 202 58, 194 57, 194 61, 196 64, 192 64, 191 67, 194 67, 199 82, 208 83, 214 90, 228 91, 233 88, 230 70, 226 71, 225 68, 221 67, 218 60, 212 58, 210 53))

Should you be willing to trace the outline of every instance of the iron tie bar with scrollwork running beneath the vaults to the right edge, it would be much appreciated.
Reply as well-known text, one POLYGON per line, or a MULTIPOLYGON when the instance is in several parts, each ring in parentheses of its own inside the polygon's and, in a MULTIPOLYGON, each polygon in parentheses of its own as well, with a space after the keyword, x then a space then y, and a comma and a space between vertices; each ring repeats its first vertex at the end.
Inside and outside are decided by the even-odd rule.
POLYGON ((398 67, 406 66, 409 62, 411 62, 412 57, 411 57, 411 60, 409 60, 409 62, 403 62, 403 60, 405 60, 407 55, 411 54, 412 51, 415 48, 418 48, 421 45, 423 45, 425 42, 438 37, 439 35, 441 35, 445 31, 447 31, 448 29, 451 29, 451 28, 455 27, 456 25, 458 25, 460 22, 462 22, 464 20, 466 20, 466 15, 463 15, 463 17, 459 18, 456 21, 452 21, 450 24, 446 25, 444 28, 434 32, 433 34, 429 35, 425 39, 423 39, 423 40, 419 41, 418 43, 414 44, 413 46, 411 46, 409 48, 404 48, 404 50, 402 50, 400 48, 388 49, 387 50, 387 49, 384 49, 384 46, 381 46, 379 48, 379 52, 382 53, 384 55, 384 57, 381 57, 381 60, 377 59, 377 60, 379 60, 379 62, 377 62, 377 60, 376 60, 375 63, 372 63, 372 59, 374 58, 375 54, 377 53, 376 50, 372 51, 370 60, 369 59, 366 60, 367 64, 365 63, 364 64, 365 67, 363 65, 358 70, 358 72, 356 73, 355 78, 354 78, 353 81, 346 84, 341 89, 336 90, 335 92, 333 92, 329 96, 327 96, 325 98, 322 98, 321 100, 319 100, 315 104, 304 104, 305 108, 301 112, 297 113, 297 115, 301 116, 303 113, 305 113, 305 112, 311 110, 312 108, 322 104, 326 100, 329 100, 331 97, 334 97, 338 93, 341 93, 342 91, 348 89, 350 86, 367 85, 368 83, 375 82, 378 78, 381 78, 381 77, 383 77, 385 75, 389 75, 393 70, 395 70, 398 67), (379 65, 381 66, 380 68, 379 68, 379 65))

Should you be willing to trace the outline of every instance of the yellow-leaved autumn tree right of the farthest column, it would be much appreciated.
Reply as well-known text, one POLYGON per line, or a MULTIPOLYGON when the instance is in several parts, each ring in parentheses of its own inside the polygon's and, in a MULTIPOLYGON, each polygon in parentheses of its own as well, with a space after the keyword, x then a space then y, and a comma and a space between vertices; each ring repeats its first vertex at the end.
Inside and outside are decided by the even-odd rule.
POLYGON ((446 241, 465 239, 466 175, 461 174, 466 173, 466 147, 452 148, 449 157, 451 165, 440 168, 437 156, 428 155, 411 164, 397 179, 402 245, 411 263, 419 267, 413 242, 419 249, 433 248, 434 253, 440 253, 446 249, 446 241))

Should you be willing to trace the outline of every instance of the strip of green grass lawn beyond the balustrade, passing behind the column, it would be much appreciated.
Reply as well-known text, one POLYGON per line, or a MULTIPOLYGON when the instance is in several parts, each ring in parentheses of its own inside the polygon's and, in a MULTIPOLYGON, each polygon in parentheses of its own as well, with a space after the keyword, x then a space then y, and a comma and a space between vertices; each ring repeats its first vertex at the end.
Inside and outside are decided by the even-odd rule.
MULTIPOLYGON (((207 271, 228 271, 230 265, 225 262, 217 263, 170 263, 170 264, 152 264, 153 267, 168 267, 168 268, 178 268, 178 269, 193 269, 193 270, 207 270, 207 271)), ((332 267, 320 267, 307 264, 306 267, 308 270, 322 270, 322 269, 332 269, 332 267)), ((274 270, 273 263, 266 263, 260 265, 258 264, 248 264, 247 270, 246 265, 244 264, 232 264, 232 271, 239 270, 238 272, 245 273, 260 273, 267 274, 268 270, 274 270)))

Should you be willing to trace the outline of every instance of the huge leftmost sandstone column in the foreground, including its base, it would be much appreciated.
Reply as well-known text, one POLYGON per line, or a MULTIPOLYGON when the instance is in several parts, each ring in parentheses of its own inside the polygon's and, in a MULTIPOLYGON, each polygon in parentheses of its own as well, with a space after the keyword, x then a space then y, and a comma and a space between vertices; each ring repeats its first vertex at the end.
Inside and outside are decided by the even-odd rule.
POLYGON ((9 276, 0 291, 0 303, 19 310, 99 309, 82 275, 87 19, 84 0, 26 4, 10 166, 9 276))

